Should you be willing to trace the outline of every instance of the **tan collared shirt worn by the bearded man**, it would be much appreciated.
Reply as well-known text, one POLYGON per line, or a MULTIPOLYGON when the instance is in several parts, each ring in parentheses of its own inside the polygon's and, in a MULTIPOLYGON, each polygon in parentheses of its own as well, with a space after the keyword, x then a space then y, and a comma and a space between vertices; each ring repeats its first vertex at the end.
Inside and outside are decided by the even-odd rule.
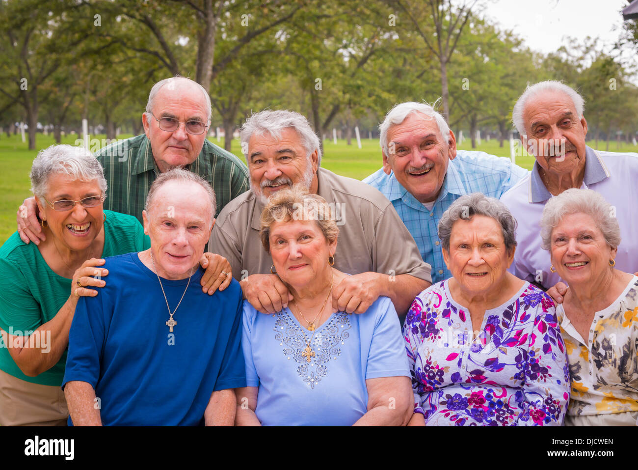
MULTIPOLYGON (((430 266, 392 204, 357 179, 320 168, 318 194, 336 214, 339 236, 334 267, 348 274, 368 271, 410 274, 431 282, 430 266)), ((209 249, 230 262, 237 280, 271 272, 271 255, 260 239, 263 204, 248 191, 230 202, 212 227, 209 249)))

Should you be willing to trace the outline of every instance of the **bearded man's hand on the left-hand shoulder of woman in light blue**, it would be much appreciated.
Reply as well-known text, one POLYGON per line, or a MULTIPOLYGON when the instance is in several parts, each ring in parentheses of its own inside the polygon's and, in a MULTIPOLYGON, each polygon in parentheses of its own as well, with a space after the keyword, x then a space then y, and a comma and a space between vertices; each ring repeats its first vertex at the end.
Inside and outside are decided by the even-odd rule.
POLYGON ((288 287, 274 274, 253 274, 240 284, 244 298, 262 314, 281 312, 292 301, 288 287))

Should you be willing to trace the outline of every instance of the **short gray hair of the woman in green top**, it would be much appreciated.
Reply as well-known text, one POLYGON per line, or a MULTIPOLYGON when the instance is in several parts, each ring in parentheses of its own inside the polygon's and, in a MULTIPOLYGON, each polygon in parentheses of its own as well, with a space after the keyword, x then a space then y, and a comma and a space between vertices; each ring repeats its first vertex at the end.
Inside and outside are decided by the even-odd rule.
POLYGON ((107 193, 107 180, 100 162, 84 147, 61 144, 40 150, 31 165, 31 191, 43 204, 52 174, 64 174, 80 181, 97 180, 102 195, 107 193))

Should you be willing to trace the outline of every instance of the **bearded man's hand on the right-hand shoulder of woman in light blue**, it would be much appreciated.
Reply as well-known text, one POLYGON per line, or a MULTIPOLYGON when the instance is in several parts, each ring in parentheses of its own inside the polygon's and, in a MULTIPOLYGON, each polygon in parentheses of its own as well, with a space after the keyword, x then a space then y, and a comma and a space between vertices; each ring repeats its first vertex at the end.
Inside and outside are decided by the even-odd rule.
POLYGON ((377 273, 346 276, 332 289, 332 312, 362 314, 379 298, 377 273))

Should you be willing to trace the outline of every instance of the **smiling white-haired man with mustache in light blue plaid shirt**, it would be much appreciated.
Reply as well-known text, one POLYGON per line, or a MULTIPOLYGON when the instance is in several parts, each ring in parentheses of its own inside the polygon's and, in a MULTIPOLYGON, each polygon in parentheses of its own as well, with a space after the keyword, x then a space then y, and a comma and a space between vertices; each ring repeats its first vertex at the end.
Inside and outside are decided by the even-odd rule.
POLYGON ((507 158, 457 150, 445 119, 426 103, 397 104, 380 131, 383 168, 363 181, 392 202, 431 264, 433 283, 452 277, 437 232, 443 213, 464 194, 498 198, 528 171, 507 158))

